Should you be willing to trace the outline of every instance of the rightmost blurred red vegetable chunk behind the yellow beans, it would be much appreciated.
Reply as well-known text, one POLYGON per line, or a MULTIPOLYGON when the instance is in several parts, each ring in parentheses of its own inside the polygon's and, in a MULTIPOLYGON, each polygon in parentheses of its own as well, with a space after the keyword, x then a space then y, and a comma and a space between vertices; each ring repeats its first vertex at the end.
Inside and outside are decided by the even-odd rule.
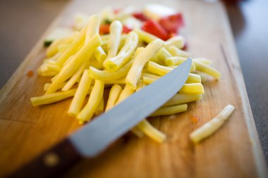
POLYGON ((178 34, 178 30, 184 25, 183 15, 181 13, 176 13, 166 16, 159 20, 159 24, 162 25, 166 32, 178 34))

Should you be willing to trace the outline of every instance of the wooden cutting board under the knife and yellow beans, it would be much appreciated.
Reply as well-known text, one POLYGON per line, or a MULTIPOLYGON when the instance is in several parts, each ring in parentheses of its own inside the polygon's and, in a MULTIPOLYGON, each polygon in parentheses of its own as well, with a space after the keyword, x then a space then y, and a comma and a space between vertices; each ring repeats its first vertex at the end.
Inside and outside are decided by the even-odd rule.
MULTIPOLYGON (((150 1, 71 1, 47 33, 56 26, 71 25, 77 11, 97 13, 104 6, 140 7, 145 3, 150 1)), ((183 12, 183 34, 189 51, 214 60, 221 80, 209 78, 204 82, 202 100, 191 103, 186 113, 150 118, 155 127, 167 134, 164 144, 127 134, 95 163, 84 160, 66 170, 66 177, 265 177, 264 158, 224 6, 203 1, 163 4, 183 12), (236 107, 230 120, 209 139, 193 144, 190 132, 229 103, 236 107), (190 119, 192 116, 199 118, 197 123, 190 119)), ((0 176, 80 127, 77 120, 66 114, 71 99, 41 107, 30 103, 30 97, 43 94, 43 85, 49 81, 36 72, 44 58, 42 42, 47 33, 0 91, 0 176), (34 70, 35 75, 28 77, 28 70, 34 70)))

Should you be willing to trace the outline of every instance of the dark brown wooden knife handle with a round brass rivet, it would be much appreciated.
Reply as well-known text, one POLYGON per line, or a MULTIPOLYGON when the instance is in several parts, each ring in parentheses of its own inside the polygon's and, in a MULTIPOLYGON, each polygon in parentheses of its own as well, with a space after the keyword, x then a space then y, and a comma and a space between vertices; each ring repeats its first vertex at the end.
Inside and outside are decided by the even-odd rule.
POLYGON ((71 141, 64 139, 8 177, 59 177, 82 158, 71 141))

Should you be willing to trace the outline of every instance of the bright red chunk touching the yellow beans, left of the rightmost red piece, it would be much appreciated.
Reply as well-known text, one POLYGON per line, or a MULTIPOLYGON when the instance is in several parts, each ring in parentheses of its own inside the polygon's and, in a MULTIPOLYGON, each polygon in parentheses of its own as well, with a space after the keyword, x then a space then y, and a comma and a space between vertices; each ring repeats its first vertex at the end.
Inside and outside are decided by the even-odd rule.
POLYGON ((142 30, 150 34, 154 34, 160 39, 166 40, 169 39, 169 34, 164 30, 164 28, 157 23, 155 20, 147 20, 142 25, 142 30))

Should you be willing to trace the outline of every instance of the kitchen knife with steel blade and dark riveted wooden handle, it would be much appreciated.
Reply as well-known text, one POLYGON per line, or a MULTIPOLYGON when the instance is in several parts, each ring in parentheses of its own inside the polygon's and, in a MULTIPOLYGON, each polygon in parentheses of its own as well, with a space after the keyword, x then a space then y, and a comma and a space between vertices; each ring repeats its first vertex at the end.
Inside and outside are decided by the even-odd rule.
POLYGON ((118 137, 169 101, 187 80, 191 64, 188 58, 8 177, 59 177, 79 160, 96 158, 118 137))

